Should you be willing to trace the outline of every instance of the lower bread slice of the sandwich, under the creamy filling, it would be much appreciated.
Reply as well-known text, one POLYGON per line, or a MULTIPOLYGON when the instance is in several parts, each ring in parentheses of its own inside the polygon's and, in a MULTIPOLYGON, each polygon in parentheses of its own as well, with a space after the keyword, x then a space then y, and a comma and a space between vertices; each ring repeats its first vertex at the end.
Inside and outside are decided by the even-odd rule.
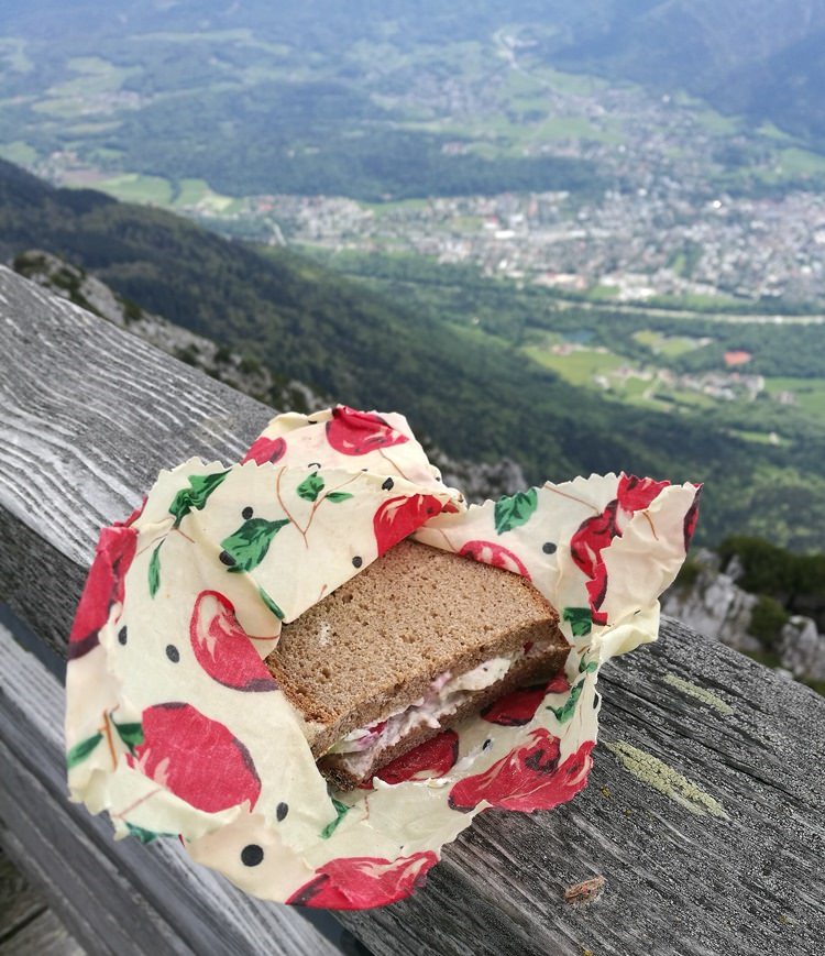
POLYGON ((541 657, 531 657, 527 660, 517 661, 498 683, 484 688, 482 691, 475 691, 459 705, 457 711, 441 717, 440 727, 428 727, 426 725, 418 727, 411 734, 400 739, 395 746, 376 750, 370 766, 361 769, 358 773, 351 772, 346 766, 346 758, 343 755, 339 756, 337 754, 328 754, 326 757, 321 757, 318 761, 318 769, 339 790, 354 790, 362 781, 371 780, 373 774, 389 763, 391 760, 395 760, 396 757, 403 757, 414 747, 418 747, 419 744, 437 737, 443 730, 454 727, 466 717, 472 717, 486 707, 487 704, 492 704, 498 700, 498 697, 516 690, 516 688, 549 680, 564 666, 569 649, 566 646, 564 648, 554 647, 541 657))

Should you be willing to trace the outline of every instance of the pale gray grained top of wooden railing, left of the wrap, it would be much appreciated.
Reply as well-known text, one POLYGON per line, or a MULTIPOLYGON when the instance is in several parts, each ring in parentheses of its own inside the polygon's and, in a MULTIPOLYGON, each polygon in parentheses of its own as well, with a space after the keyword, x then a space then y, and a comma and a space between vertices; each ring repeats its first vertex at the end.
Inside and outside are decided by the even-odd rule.
POLYGON ((0 600, 48 604, 40 633, 65 646, 100 527, 161 468, 237 460, 273 414, 0 266, 0 600))

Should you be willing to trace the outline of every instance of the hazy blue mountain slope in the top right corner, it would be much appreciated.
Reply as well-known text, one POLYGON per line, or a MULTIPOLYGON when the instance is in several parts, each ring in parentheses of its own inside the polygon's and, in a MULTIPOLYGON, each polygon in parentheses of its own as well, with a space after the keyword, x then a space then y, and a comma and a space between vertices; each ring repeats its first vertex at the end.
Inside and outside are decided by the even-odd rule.
POLYGON ((550 57, 574 70, 685 89, 825 146, 825 0, 638 0, 550 57))

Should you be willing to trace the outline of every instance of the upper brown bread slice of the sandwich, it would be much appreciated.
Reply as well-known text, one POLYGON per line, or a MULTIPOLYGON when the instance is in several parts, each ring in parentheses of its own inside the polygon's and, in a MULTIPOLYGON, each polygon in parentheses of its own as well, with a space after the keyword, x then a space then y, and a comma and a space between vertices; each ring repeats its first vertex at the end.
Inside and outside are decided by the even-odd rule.
POLYGON ((297 620, 266 664, 318 759, 350 730, 421 697, 443 671, 551 640, 558 614, 524 578, 403 541, 297 620))

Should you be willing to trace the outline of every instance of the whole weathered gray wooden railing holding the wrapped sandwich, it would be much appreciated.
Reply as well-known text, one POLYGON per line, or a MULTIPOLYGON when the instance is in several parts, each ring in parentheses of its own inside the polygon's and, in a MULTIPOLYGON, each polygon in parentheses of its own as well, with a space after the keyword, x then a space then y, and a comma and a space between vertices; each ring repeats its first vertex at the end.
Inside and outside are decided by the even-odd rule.
MULTIPOLYGON (((30 628, 0 625, 0 844, 90 953, 339 952, 175 840, 116 844, 66 800, 61 661, 99 528, 161 468, 237 460, 272 409, 4 268, 0 371, 0 601, 30 628)), ((601 690, 586 790, 552 812, 487 812, 409 900, 334 914, 361 946, 821 952, 823 700, 670 619, 601 690), (595 877, 595 899, 565 894, 595 877)))

